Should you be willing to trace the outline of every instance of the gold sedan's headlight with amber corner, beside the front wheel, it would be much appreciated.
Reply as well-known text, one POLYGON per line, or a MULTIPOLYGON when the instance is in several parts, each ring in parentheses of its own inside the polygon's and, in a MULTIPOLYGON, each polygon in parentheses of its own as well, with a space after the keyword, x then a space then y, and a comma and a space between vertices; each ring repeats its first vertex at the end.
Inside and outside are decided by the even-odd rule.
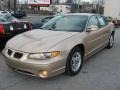
POLYGON ((30 59, 37 59, 37 60, 45 60, 57 57, 60 55, 60 51, 53 51, 53 52, 42 52, 39 54, 29 54, 28 58, 30 59))

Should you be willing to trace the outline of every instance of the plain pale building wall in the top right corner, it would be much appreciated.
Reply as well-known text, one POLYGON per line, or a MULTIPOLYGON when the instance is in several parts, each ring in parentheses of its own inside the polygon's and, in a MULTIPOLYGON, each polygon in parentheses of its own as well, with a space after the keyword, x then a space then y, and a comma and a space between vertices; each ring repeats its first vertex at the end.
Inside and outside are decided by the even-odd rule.
POLYGON ((120 0, 105 0, 104 15, 120 19, 120 0))

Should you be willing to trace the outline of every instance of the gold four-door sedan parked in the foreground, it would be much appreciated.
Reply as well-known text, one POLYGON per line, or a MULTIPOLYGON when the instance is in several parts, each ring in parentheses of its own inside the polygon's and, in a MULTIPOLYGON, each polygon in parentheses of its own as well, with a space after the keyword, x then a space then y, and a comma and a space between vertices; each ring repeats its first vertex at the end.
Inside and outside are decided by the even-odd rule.
POLYGON ((115 28, 103 16, 73 13, 56 16, 41 29, 9 40, 3 50, 7 65, 20 73, 48 78, 77 75, 83 61, 104 47, 112 48, 115 28))

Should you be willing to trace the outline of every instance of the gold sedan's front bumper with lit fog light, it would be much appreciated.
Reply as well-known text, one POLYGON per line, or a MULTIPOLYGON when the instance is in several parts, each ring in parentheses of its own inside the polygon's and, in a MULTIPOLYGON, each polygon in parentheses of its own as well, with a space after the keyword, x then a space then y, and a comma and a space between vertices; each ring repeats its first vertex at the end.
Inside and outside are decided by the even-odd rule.
POLYGON ((65 60, 56 57, 51 60, 30 60, 27 58, 15 59, 8 56, 3 50, 6 64, 14 71, 36 76, 41 78, 49 78, 65 72, 65 60))

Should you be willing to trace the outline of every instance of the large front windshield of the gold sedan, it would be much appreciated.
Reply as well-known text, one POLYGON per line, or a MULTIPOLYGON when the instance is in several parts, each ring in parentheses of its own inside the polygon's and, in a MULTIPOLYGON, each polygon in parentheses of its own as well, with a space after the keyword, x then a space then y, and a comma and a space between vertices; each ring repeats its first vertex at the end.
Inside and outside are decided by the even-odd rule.
POLYGON ((41 29, 55 30, 55 31, 71 31, 82 32, 85 28, 88 16, 85 15, 61 15, 56 16, 47 23, 45 23, 41 29))

